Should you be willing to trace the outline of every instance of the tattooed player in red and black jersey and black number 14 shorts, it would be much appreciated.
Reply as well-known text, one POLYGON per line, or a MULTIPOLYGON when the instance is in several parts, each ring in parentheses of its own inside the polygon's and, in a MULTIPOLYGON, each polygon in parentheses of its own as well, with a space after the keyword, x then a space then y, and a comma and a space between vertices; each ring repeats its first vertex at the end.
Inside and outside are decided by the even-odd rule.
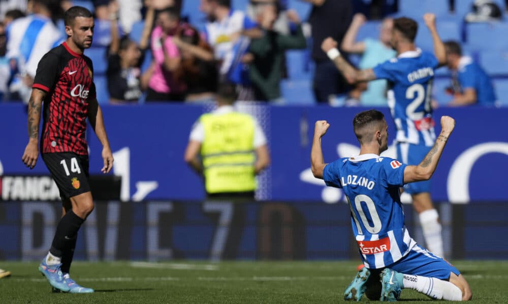
POLYGON ((113 155, 104 128, 102 110, 93 84, 93 66, 83 55, 91 46, 93 15, 83 7, 65 13, 66 42, 52 49, 39 62, 28 103, 28 136, 22 160, 30 169, 39 156, 39 121, 44 101, 41 156, 51 172, 62 199, 62 217, 39 271, 53 290, 74 293, 93 292, 74 282, 70 267, 77 234, 93 210, 88 184, 86 119, 103 145, 103 173, 113 167, 113 155))

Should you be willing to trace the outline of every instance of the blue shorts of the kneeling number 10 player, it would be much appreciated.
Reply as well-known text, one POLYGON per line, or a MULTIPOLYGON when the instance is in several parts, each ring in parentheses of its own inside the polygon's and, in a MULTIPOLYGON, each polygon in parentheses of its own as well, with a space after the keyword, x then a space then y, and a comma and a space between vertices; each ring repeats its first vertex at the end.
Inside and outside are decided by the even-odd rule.
POLYGON ((454 273, 457 276, 460 275, 460 272, 448 261, 418 245, 413 247, 406 256, 389 265, 387 268, 406 275, 423 276, 447 281, 450 279, 450 273, 454 273))

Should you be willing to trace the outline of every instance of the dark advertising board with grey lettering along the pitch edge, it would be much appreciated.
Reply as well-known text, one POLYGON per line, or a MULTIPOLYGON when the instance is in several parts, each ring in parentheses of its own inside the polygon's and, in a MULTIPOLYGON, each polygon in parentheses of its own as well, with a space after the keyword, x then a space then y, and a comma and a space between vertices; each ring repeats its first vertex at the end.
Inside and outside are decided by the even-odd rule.
MULTIPOLYGON (((506 202, 437 204, 452 259, 508 254, 506 202)), ((418 217, 406 225, 424 244, 418 217)), ((0 202, 0 260, 39 260, 51 245, 59 202, 0 202)), ((99 201, 79 231, 75 259, 359 259, 347 204, 323 202, 99 201)))

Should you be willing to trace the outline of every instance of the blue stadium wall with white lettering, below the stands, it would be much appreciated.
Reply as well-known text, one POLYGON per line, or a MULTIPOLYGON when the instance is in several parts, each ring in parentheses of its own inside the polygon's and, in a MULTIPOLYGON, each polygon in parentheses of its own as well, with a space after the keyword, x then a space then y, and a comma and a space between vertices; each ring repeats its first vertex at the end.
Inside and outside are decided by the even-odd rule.
MULTIPOLYGON (((188 135, 209 105, 145 104, 103 105, 106 129, 114 151, 114 174, 120 176, 121 200, 204 200, 203 183, 183 162, 188 135)), ((258 178, 257 199, 272 201, 345 201, 339 189, 325 187, 310 172, 310 148, 314 122, 328 120, 331 127, 323 140, 325 161, 354 155, 359 150, 352 120, 364 110, 359 107, 269 106, 240 103, 240 110, 254 115, 264 128, 272 162, 258 178)), ((388 108, 389 138, 395 131, 388 108)), ((431 179, 436 201, 464 204, 481 201, 508 201, 508 108, 438 108, 435 117, 456 119, 456 129, 431 179)), ((90 173, 100 174, 101 145, 91 128, 87 138, 90 173)), ((439 132, 439 120, 436 132, 439 132)), ((26 106, 0 106, 0 175, 9 175, 0 188, 1 198, 47 200, 55 197, 52 184, 13 178, 20 175, 48 175, 42 160, 33 170, 21 162, 27 142, 26 106), (53 197, 51 197, 51 193, 53 197)), ((394 149, 387 151, 395 156, 394 149)), ((42 182, 42 181, 41 181, 42 182)), ((57 198, 57 195, 56 195, 57 198)), ((408 197, 404 197, 407 202, 408 197)))

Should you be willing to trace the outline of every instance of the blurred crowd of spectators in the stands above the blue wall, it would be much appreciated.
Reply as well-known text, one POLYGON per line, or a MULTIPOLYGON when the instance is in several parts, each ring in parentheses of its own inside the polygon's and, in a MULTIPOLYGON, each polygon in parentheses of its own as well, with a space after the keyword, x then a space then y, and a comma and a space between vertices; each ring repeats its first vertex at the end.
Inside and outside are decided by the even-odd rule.
MULTIPOLYGON (((0 98, 28 100, 38 61, 66 39, 62 13, 80 5, 96 19, 93 45, 85 55, 94 62, 96 85, 103 85, 103 95, 108 96, 100 102, 208 102, 214 100, 218 84, 227 82, 235 84, 239 100, 287 104, 281 81, 289 77, 290 65, 297 64, 287 58, 287 50, 297 49, 308 50, 313 64, 308 81, 316 102, 386 105, 386 82, 348 86, 320 45, 325 37, 333 37, 344 54, 358 54, 359 68, 395 57, 389 16, 397 13, 398 2, 299 1, 310 3, 309 16, 299 16, 288 0, 250 0, 244 11, 235 10, 231 0, 2 1, 0 98), (181 14, 183 1, 196 4, 195 10, 206 18, 203 24, 190 23, 181 14), (358 40, 360 28, 373 19, 383 20, 378 39, 358 40), (140 23, 142 29, 134 35, 140 23)), ((490 10, 482 19, 481 11, 473 10, 469 21, 490 21, 503 14, 490 10)), ((447 42, 447 51, 449 92, 454 96, 449 104, 493 104, 489 75, 462 55, 460 42, 447 42)))

